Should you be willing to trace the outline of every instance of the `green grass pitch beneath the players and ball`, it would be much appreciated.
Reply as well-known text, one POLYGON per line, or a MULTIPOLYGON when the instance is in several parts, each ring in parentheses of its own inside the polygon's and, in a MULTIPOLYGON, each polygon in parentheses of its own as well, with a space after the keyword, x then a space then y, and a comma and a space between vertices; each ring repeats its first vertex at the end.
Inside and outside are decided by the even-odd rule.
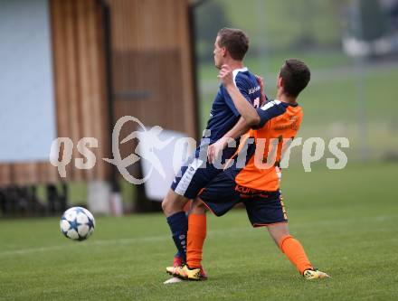
POLYGON ((290 230, 332 278, 308 282, 243 210, 208 219, 204 282, 165 286, 174 252, 164 217, 97 217, 90 240, 56 218, 0 221, 0 300, 396 300, 398 165, 287 170, 290 230))

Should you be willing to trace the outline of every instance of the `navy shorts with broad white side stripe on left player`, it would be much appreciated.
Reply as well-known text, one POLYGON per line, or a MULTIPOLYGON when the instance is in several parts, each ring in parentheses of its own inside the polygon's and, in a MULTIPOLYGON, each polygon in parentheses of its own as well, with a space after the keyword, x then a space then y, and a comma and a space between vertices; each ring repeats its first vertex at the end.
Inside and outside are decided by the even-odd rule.
MULTIPOLYGON (((235 148, 225 148, 222 162, 230 158, 235 150, 235 148)), ((180 168, 171 184, 171 189, 175 193, 194 199, 213 178, 223 172, 223 168, 216 168, 207 162, 206 151, 206 147, 202 152, 200 147, 196 148, 194 155, 191 155, 180 168)))

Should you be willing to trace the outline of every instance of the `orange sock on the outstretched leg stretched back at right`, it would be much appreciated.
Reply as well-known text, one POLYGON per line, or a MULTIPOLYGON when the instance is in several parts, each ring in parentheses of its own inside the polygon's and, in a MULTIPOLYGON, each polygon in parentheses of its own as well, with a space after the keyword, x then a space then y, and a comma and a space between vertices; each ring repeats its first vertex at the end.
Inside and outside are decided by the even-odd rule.
POLYGON ((295 240, 290 235, 280 240, 280 249, 287 256, 290 262, 299 269, 300 274, 308 268, 312 268, 311 263, 308 260, 306 252, 303 246, 299 243, 299 240, 295 240))

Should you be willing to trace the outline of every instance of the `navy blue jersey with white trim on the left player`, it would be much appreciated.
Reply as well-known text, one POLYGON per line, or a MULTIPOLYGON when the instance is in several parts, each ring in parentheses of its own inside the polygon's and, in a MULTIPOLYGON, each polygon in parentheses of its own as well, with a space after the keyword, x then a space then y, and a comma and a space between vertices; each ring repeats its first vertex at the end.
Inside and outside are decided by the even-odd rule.
MULTIPOLYGON (((233 80, 236 87, 241 91, 245 99, 258 108, 261 102, 261 89, 254 74, 247 68, 232 71, 233 80)), ((206 131, 210 130, 210 144, 220 139, 227 133, 238 121, 240 114, 233 105, 233 101, 227 90, 220 85, 220 89, 213 101, 210 118, 207 122, 206 131)))

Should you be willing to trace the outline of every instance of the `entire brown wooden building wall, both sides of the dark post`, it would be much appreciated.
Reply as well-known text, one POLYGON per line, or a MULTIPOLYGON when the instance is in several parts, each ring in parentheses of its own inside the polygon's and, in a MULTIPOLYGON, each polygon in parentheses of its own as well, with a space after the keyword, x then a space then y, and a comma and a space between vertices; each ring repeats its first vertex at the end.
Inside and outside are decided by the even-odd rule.
MULTIPOLYGON (((100 1, 50 4, 57 136, 71 137, 75 146, 84 136, 99 139, 99 148, 93 149, 96 167, 81 171, 71 164, 63 180, 105 180, 110 165, 102 158, 109 157, 111 134, 100 1)), ((108 0, 108 4, 116 118, 131 115, 146 126, 196 137, 188 0, 108 0)), ((72 160, 76 157, 81 155, 74 147, 72 160)), ((0 186, 60 180, 48 162, 0 165, 0 186)))

